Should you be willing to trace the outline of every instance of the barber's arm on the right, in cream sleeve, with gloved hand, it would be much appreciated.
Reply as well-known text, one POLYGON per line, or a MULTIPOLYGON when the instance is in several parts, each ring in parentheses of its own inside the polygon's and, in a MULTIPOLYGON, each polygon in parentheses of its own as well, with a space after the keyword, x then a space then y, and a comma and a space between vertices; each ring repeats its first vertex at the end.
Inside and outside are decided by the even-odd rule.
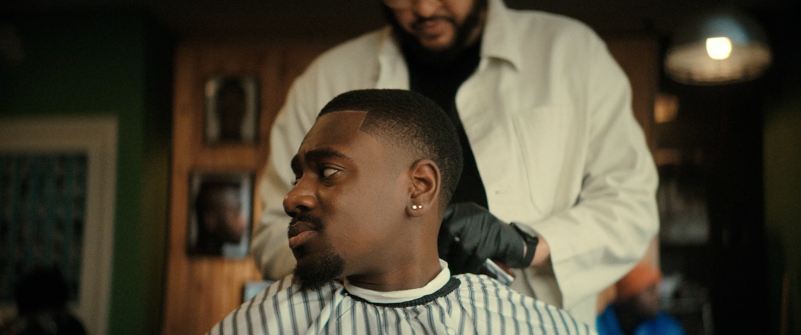
MULTIPOLYGON (((536 221, 515 220, 525 233, 538 237, 532 265, 553 268, 567 308, 622 277, 642 258, 658 231, 654 196, 658 176, 631 110, 629 82, 600 38, 591 36, 588 42, 586 53, 578 53, 588 55, 586 67, 578 70, 586 78, 582 81, 587 109, 582 189, 570 208, 536 221)), ((465 234, 485 238, 480 234, 490 225, 482 222, 480 230, 454 225, 463 231, 452 234, 461 234, 460 241, 465 241, 465 234)), ((499 241, 513 243, 510 230, 501 231, 509 238, 499 241)), ((480 251, 492 249, 489 243, 473 245, 480 257, 498 251, 480 251)))

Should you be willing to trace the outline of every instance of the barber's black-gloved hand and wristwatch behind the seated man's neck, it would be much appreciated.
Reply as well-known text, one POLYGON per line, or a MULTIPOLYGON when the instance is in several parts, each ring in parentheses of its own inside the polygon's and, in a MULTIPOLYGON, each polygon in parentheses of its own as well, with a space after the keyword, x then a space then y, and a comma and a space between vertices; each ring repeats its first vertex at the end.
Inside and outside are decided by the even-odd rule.
POLYGON ((451 273, 479 273, 488 258, 513 268, 528 267, 537 241, 537 237, 506 224, 484 207, 474 202, 459 202, 445 209, 439 251, 440 257, 448 261, 451 273), (525 245, 528 249, 524 254, 525 245))

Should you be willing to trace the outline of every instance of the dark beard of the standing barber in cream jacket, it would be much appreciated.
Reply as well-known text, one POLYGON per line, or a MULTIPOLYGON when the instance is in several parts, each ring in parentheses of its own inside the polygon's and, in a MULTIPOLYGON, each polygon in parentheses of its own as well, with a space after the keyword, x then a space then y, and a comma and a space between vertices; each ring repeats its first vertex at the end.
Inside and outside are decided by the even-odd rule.
MULTIPOLYGON (((481 24, 481 14, 487 8, 487 0, 476 0, 473 2, 473 8, 470 9, 469 14, 465 21, 460 25, 453 21, 453 18, 446 18, 448 22, 457 27, 456 36, 453 38, 453 43, 443 50, 431 50, 426 48, 420 43, 416 36, 407 32, 400 23, 397 22, 395 14, 392 9, 381 3, 381 8, 384 10, 384 15, 392 26, 392 31, 395 33, 400 47, 410 56, 430 66, 442 66, 453 62, 462 51, 469 47, 468 39, 473 34, 473 30, 481 24)), ((421 25, 431 18, 418 17, 413 25, 421 25)))

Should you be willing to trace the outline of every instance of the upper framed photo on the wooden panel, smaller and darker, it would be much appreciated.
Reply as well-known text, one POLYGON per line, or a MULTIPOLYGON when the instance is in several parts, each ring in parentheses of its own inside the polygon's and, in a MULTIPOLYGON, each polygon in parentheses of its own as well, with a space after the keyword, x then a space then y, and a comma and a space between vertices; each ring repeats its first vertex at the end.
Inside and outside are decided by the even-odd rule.
POLYGON ((256 143, 259 129, 256 76, 209 78, 205 95, 203 141, 206 144, 256 143))

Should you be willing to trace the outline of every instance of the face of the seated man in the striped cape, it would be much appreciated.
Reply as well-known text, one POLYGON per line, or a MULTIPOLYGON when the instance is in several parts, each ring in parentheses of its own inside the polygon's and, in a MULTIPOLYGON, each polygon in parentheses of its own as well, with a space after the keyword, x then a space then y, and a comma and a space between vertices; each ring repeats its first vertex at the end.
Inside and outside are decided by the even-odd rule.
POLYGON ((380 273, 402 243, 405 169, 398 150, 359 130, 364 115, 323 115, 292 159, 296 185, 284 197, 284 211, 292 217, 289 246, 301 287, 380 273))

